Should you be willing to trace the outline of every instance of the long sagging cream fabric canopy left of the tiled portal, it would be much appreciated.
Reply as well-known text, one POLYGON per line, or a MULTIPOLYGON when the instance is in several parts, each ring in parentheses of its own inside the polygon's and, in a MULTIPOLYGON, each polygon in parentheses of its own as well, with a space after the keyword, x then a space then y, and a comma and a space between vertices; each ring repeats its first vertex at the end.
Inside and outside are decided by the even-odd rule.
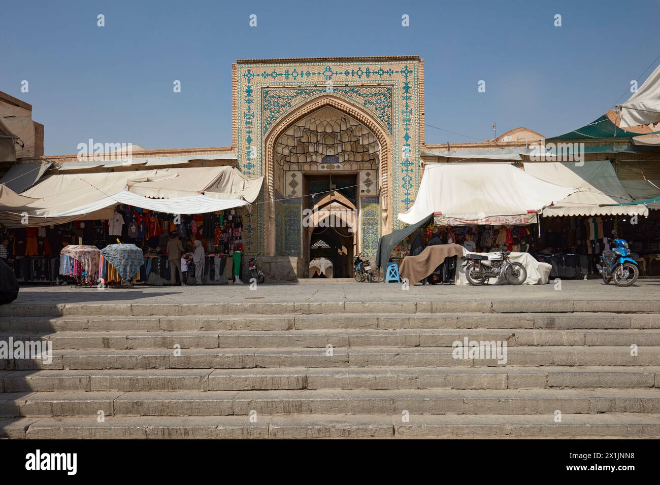
POLYGON ((116 204, 133 205, 170 214, 202 214, 249 205, 243 195, 254 200, 254 192, 258 193, 261 189, 263 178, 244 179, 245 183, 241 185, 235 174, 217 170, 218 168, 236 170, 231 167, 164 168, 51 175, 22 193, 23 196, 36 200, 20 210, 17 207, 5 208, 8 212, 0 214, 0 222, 8 227, 18 227, 63 224, 72 220, 108 219, 112 218, 116 204), (233 182, 223 183, 219 180, 225 175, 229 175, 233 182), (172 188, 175 183, 178 184, 178 190, 172 188), (211 193, 209 196, 198 191, 200 187, 203 190, 203 186, 210 183, 227 189, 240 188, 242 191, 232 193, 232 199, 216 197, 218 193, 211 193), (142 194, 133 190, 136 187, 139 187, 138 191, 142 194), (177 197, 149 198, 162 193, 171 193, 177 197), (28 224, 22 224, 26 221, 21 212, 28 215, 28 224))

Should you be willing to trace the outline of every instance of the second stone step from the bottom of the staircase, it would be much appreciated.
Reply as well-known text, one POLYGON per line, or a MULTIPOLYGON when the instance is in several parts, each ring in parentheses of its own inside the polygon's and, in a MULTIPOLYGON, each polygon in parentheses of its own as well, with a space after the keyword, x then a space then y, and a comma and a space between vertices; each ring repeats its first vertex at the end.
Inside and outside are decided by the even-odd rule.
MULTIPOLYGON (((0 416, 660 412, 658 389, 397 389, 3 393, 0 416)), ((548 416, 548 419, 552 419, 548 416)))

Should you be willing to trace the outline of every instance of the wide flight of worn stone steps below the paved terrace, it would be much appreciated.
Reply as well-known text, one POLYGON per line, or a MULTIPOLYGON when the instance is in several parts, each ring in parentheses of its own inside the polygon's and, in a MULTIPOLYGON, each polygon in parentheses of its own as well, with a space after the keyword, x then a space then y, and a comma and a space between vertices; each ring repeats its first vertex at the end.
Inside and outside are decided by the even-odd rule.
POLYGON ((659 302, 0 307, 0 437, 659 437, 659 302), (507 342, 498 358, 453 342, 507 342))

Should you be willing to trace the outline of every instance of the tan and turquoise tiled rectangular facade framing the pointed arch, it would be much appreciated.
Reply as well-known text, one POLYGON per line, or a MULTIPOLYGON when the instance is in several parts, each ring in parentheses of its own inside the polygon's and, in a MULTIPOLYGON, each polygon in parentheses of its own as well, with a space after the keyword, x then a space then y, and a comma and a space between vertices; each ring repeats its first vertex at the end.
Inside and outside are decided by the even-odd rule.
MULTIPOLYGON (((329 94, 329 91, 336 98, 372 113, 390 134, 391 153, 387 159, 389 219, 393 230, 399 228, 401 224, 397 215, 413 205, 420 182, 418 162, 422 93, 418 59, 304 59, 237 63, 234 102, 238 167, 248 177, 266 175, 263 140, 267 131, 283 116, 294 112, 302 104, 329 94), (389 117, 387 113, 391 113, 389 117)), ((261 230, 266 213, 263 196, 261 201, 255 203, 254 209, 248 216, 244 235, 250 252, 265 249, 261 230)))

